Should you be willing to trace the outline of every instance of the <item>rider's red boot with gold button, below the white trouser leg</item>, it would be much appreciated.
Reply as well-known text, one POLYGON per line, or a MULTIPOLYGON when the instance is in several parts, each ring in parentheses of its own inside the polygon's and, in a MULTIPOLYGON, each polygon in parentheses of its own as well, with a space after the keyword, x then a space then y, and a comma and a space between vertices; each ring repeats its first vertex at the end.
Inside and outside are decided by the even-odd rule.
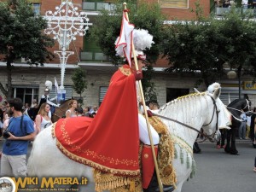
MULTIPOLYGON (((154 152, 157 156, 158 146, 154 146, 154 152)), ((142 166, 143 166, 143 192, 156 192, 160 191, 158 181, 154 169, 154 159, 151 146, 143 145, 142 152, 142 166)), ((172 192, 174 187, 172 185, 164 185, 163 191, 172 192)))

